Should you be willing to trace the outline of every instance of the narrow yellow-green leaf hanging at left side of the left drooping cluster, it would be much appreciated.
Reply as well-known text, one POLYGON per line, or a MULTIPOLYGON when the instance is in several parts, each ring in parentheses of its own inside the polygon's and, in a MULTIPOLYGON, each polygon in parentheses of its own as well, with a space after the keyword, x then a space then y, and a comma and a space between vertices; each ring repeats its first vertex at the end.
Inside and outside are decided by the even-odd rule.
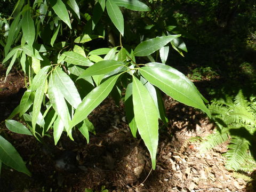
POLYGON ((32 127, 33 127, 34 134, 35 134, 36 123, 38 121, 38 117, 40 114, 41 105, 42 105, 42 101, 43 101, 46 77, 47 76, 45 75, 45 78, 42 79, 42 82, 39 82, 40 86, 38 87, 38 89, 36 90, 36 93, 35 93, 35 99, 34 99, 34 104, 33 104, 33 116, 32 116, 32 127))

